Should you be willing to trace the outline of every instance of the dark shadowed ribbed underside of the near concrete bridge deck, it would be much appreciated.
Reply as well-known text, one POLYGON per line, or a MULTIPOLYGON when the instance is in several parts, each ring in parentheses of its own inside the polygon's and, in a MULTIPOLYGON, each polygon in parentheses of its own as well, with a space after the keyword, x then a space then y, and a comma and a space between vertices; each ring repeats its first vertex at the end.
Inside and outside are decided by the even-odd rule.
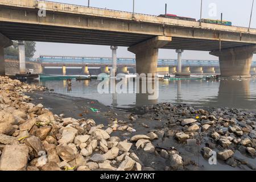
MULTIPOLYGON (((28 23, 0 22, 0 32, 11 40, 26 40, 36 42, 55 42, 73 44, 94 44, 104 46, 131 47, 155 35, 134 34, 127 32, 88 30, 46 26, 28 23)), ((172 41, 163 46, 164 49, 184 49, 193 51, 215 51, 234 47, 244 47, 253 44, 228 42, 207 39, 179 38, 172 36, 172 41)))

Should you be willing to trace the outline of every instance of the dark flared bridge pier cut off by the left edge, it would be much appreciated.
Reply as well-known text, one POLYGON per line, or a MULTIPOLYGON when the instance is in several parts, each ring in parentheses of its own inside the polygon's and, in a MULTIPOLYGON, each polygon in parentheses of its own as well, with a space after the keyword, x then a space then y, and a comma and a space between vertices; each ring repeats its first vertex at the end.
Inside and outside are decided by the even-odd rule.
POLYGON ((13 42, 5 35, 0 33, 0 75, 5 75, 5 53, 4 48, 12 46, 13 42))

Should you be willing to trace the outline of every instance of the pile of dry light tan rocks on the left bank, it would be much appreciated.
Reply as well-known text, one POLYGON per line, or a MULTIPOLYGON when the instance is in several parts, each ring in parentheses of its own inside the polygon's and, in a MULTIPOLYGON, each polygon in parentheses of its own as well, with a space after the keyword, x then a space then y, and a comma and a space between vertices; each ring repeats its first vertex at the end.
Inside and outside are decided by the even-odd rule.
POLYGON ((0 171, 142 169, 133 143, 111 137, 112 127, 54 115, 22 94, 43 87, 0 77, 0 88, 0 171))

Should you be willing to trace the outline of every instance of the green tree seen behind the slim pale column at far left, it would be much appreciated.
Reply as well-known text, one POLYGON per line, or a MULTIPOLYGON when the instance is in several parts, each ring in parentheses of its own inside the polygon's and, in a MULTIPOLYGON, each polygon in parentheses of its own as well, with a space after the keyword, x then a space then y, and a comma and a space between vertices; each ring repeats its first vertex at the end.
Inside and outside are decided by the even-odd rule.
MULTIPOLYGON (((36 43, 26 41, 25 42, 25 55, 26 57, 33 57, 36 52, 36 43)), ((19 56, 18 42, 14 41, 13 46, 5 48, 5 55, 19 56)))

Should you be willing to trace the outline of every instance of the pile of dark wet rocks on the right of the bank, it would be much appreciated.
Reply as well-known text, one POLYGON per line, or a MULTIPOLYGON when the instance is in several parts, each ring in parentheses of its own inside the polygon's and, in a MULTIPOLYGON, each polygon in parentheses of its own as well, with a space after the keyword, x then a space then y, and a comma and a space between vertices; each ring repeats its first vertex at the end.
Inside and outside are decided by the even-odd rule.
POLYGON ((234 156, 237 150, 245 156, 255 158, 256 153, 256 114, 254 111, 216 108, 194 109, 188 105, 169 103, 144 106, 145 117, 168 121, 165 137, 174 137, 178 142, 188 143, 196 139, 197 145, 204 143, 201 154, 208 159, 217 152, 217 158, 232 167, 246 164, 256 167, 234 156))

